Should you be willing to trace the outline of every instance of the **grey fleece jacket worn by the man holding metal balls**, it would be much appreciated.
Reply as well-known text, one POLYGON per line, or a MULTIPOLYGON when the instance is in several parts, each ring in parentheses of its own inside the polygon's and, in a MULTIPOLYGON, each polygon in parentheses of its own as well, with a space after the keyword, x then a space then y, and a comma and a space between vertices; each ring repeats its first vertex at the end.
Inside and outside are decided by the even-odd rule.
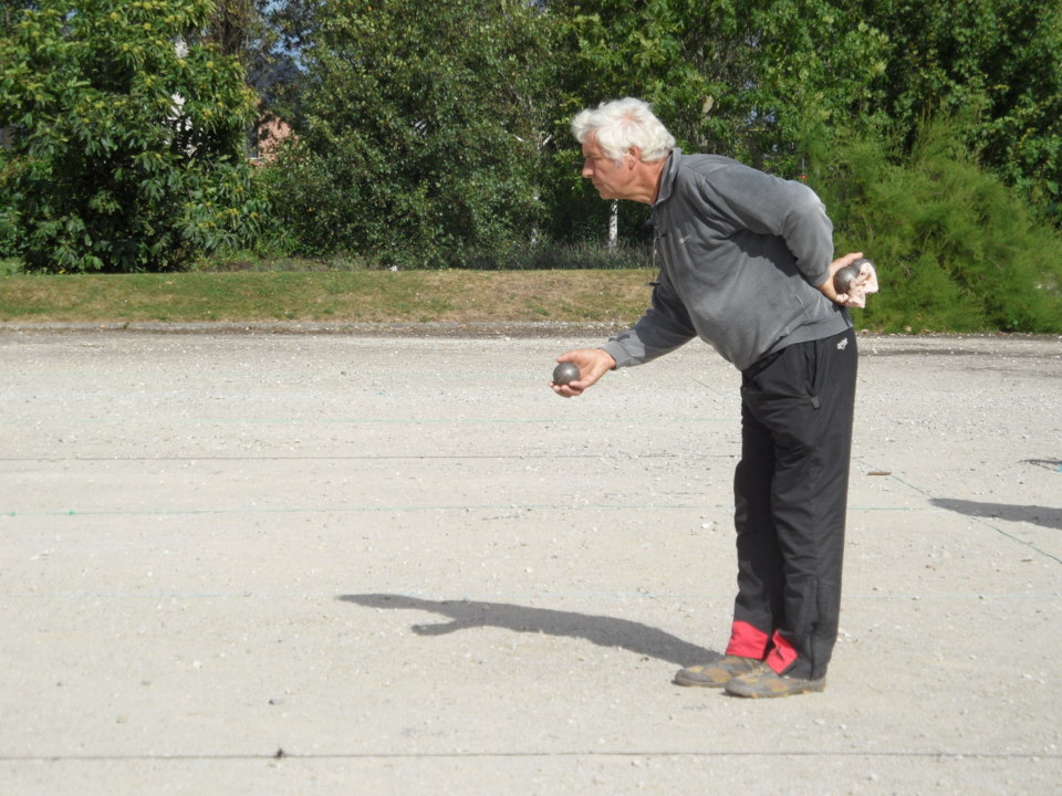
POLYGON ((617 367, 700 337, 743 370, 852 326, 847 311, 818 290, 833 261, 833 224, 808 186, 676 148, 653 223, 659 284, 645 315, 602 346, 617 367))

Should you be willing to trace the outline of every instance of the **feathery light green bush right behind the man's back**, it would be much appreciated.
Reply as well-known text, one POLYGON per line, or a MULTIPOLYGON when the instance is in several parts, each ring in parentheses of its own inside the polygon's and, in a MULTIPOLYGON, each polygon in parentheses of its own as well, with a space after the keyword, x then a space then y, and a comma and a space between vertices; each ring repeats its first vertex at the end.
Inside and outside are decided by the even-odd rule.
POLYGON ((886 332, 1058 332, 1062 235, 971 163, 961 127, 928 124, 909 160, 866 137, 815 158, 839 250, 878 264, 882 292, 856 315, 886 332))

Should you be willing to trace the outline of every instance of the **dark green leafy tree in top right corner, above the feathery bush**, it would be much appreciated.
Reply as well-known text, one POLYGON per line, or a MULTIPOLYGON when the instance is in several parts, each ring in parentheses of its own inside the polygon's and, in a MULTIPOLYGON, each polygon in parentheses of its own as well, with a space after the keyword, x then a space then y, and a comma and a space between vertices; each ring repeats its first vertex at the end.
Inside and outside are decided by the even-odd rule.
POLYGON ((1062 227, 1062 4, 1041 0, 866 0, 888 36, 878 108, 905 145, 925 119, 966 113, 956 134, 1062 227))

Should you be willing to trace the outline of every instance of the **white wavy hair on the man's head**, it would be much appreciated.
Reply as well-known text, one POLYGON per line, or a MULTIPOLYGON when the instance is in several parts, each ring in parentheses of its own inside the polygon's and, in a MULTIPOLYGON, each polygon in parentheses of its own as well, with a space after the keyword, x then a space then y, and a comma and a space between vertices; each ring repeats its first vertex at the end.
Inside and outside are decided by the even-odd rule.
POLYGON ((634 97, 603 102, 576 114, 572 119, 575 140, 584 144, 591 134, 601 150, 616 163, 631 147, 642 151, 645 163, 663 160, 675 147, 675 136, 653 114, 648 103, 634 97))

